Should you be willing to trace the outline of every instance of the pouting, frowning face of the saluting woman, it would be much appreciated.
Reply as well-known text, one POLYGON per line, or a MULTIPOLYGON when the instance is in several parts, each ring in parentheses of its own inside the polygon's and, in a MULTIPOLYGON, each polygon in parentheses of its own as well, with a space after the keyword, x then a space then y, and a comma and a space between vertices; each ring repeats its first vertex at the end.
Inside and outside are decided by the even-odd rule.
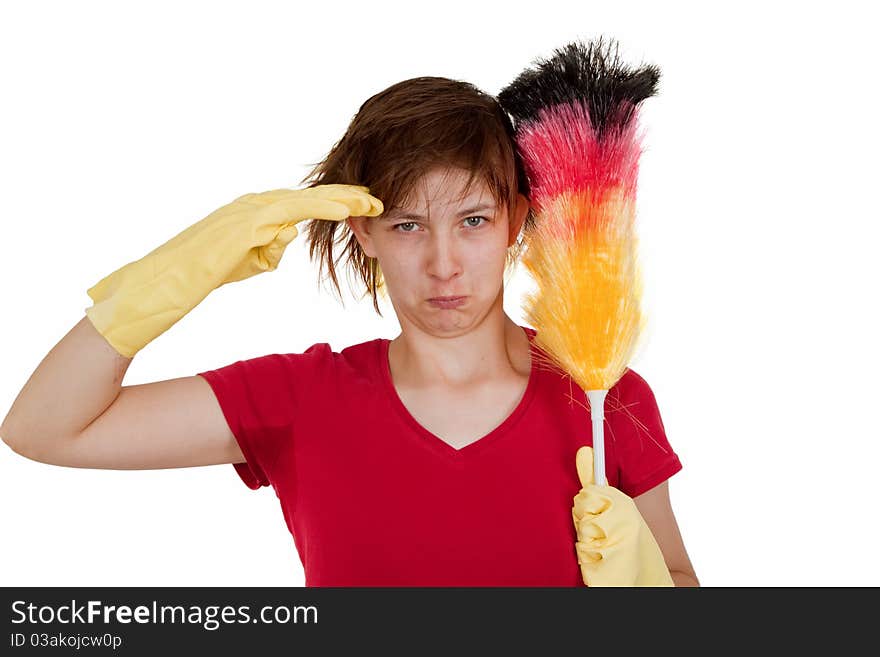
POLYGON ((482 181, 464 194, 466 181, 462 169, 434 169, 404 207, 349 219, 364 252, 379 261, 404 330, 414 326, 455 337, 490 312, 503 312, 507 249, 519 234, 528 200, 520 195, 508 213, 482 181))

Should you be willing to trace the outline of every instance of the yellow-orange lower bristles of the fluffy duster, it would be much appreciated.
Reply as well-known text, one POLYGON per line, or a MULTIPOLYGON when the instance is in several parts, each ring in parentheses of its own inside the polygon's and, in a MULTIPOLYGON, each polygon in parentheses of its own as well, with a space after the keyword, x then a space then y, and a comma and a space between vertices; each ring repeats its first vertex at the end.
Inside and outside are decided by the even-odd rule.
POLYGON ((524 299, 536 344, 584 390, 610 389, 644 332, 634 223, 620 187, 564 192, 537 212, 523 255, 537 284, 524 299))

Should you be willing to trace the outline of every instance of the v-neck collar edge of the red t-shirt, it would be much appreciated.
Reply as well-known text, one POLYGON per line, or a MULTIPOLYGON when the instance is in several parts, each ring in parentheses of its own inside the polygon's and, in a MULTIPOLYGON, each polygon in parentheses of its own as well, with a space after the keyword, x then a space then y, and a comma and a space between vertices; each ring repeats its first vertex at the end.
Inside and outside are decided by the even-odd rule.
POLYGON ((535 357, 532 353, 533 350, 536 348, 532 341, 534 337, 534 329, 532 329, 532 332, 530 332, 530 330, 524 326, 520 326, 520 328, 523 330, 529 340, 529 380, 526 384, 525 392, 523 392, 523 395, 520 398, 519 403, 516 405, 516 408, 511 411, 511 413, 501 422, 501 424, 496 426, 482 438, 478 438, 477 440, 461 448, 453 447, 436 434, 428 431, 424 426, 419 423, 418 420, 416 420, 415 417, 413 417, 412 413, 409 412, 409 409, 407 409, 406 405, 403 403, 400 395, 397 394, 397 389, 394 387, 394 380, 391 378, 391 363, 388 360, 388 350, 391 345, 391 340, 387 338, 382 338, 380 340, 379 348, 376 351, 379 358, 379 370, 382 373, 382 385, 384 386, 388 394, 391 405, 395 408, 401 419, 403 419, 403 421, 413 429, 416 438, 418 439, 420 444, 432 450, 436 454, 439 454, 440 456, 451 459, 453 461, 462 462, 465 459, 471 458, 474 455, 483 452, 486 448, 496 444, 501 438, 510 433, 513 426, 526 412, 526 409, 531 403, 532 398, 535 396, 535 388, 537 387, 538 377, 538 367, 535 361, 535 357))

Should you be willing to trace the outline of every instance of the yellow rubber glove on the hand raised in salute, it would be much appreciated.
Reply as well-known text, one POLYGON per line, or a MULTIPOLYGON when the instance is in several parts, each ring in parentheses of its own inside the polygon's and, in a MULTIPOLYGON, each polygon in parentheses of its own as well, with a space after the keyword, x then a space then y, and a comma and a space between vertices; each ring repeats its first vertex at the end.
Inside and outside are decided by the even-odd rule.
POLYGON ((306 219, 344 221, 382 214, 360 185, 317 185, 245 194, 101 279, 86 315, 121 355, 132 358, 213 290, 272 271, 306 219))

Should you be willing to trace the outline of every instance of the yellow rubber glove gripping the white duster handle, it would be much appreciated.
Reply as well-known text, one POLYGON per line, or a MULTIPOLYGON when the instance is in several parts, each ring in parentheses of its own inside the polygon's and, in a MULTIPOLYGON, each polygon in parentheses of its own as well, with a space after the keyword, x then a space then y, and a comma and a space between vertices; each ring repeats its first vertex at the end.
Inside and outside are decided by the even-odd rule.
POLYGON ((575 456, 580 492, 572 517, 578 563, 587 586, 675 586, 663 553, 636 503, 613 486, 597 486, 593 448, 575 456))

